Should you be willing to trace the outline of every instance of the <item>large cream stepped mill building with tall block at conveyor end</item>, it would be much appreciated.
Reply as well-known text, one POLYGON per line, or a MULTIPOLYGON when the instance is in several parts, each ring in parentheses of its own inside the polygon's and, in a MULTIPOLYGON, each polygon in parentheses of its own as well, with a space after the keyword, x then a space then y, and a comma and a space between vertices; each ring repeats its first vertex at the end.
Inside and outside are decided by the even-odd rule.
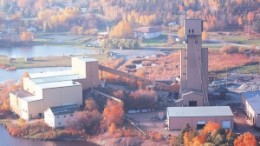
POLYGON ((83 90, 100 84, 98 62, 92 58, 72 58, 72 70, 30 74, 23 88, 10 93, 10 107, 21 118, 43 116, 49 107, 82 105, 83 90))

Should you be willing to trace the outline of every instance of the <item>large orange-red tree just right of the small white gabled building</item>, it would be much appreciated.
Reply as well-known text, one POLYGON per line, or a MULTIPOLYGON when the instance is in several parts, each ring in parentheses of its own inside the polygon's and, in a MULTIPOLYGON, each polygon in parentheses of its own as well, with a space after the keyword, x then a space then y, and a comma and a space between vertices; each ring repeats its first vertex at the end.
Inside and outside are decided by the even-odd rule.
POLYGON ((112 123, 119 126, 123 122, 124 105, 122 102, 108 100, 106 107, 103 111, 103 124, 108 127, 112 123))

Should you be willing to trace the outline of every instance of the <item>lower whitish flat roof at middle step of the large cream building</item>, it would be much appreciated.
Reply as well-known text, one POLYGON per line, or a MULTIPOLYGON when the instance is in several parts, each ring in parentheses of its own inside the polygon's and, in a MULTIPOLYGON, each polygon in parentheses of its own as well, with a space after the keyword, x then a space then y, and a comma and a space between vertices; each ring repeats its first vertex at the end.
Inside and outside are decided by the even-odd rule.
POLYGON ((48 88, 59 88, 59 87, 69 87, 69 86, 81 86, 81 84, 73 81, 62 81, 62 82, 37 84, 37 86, 42 89, 48 89, 48 88))

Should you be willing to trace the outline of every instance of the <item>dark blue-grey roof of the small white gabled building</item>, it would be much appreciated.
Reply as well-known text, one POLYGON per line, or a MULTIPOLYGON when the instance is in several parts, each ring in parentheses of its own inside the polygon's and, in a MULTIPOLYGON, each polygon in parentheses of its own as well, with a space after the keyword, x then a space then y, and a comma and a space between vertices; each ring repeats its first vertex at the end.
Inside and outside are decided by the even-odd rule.
POLYGON ((79 110, 79 106, 77 104, 55 106, 50 107, 50 110, 54 115, 65 115, 74 113, 75 111, 79 110))

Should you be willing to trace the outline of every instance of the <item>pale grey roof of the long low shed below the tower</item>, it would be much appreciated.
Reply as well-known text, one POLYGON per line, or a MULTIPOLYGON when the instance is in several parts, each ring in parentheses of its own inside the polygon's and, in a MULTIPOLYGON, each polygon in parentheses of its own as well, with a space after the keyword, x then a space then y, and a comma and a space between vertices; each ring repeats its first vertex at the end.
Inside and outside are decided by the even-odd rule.
POLYGON ((233 116, 229 106, 168 107, 169 117, 233 116))

